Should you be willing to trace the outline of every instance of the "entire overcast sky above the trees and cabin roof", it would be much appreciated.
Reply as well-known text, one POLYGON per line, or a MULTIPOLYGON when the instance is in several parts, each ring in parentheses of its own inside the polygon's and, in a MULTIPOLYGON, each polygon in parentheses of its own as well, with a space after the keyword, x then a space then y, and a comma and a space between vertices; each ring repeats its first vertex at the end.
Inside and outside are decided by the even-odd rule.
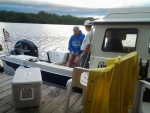
POLYGON ((150 0, 0 0, 0 10, 82 17, 104 15, 106 9, 117 7, 150 7, 150 0))

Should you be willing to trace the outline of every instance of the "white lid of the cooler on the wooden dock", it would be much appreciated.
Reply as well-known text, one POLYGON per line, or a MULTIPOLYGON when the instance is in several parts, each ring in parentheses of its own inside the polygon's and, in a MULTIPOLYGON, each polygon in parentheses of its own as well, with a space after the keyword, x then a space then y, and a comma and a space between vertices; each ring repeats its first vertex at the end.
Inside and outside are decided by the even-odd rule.
POLYGON ((40 68, 20 67, 15 71, 13 84, 33 84, 42 83, 40 68))

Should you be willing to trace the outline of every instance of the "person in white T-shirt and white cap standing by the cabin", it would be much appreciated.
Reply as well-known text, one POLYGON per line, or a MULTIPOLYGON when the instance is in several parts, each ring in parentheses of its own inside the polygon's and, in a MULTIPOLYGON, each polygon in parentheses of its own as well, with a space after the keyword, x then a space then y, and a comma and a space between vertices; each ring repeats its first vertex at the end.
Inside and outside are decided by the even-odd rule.
POLYGON ((81 58, 80 58, 80 67, 89 68, 89 60, 90 60, 90 45, 92 41, 92 22, 90 20, 86 20, 84 22, 85 29, 87 31, 87 34, 83 40, 83 43, 81 45, 81 58))

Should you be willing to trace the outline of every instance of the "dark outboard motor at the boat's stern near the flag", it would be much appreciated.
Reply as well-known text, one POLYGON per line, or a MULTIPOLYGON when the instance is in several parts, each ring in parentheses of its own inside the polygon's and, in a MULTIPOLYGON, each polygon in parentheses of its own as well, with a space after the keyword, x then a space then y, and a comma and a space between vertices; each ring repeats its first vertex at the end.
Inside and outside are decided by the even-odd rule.
POLYGON ((27 39, 19 40, 14 47, 14 50, 11 50, 12 55, 29 55, 38 57, 38 47, 27 39))

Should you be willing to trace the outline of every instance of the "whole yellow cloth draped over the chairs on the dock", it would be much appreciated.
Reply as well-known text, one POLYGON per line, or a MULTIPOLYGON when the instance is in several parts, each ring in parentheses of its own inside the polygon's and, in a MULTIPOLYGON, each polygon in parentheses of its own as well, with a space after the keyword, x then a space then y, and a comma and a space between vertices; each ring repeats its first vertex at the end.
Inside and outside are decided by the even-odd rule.
POLYGON ((108 61, 89 72, 84 113, 128 113, 138 80, 137 52, 108 61))

